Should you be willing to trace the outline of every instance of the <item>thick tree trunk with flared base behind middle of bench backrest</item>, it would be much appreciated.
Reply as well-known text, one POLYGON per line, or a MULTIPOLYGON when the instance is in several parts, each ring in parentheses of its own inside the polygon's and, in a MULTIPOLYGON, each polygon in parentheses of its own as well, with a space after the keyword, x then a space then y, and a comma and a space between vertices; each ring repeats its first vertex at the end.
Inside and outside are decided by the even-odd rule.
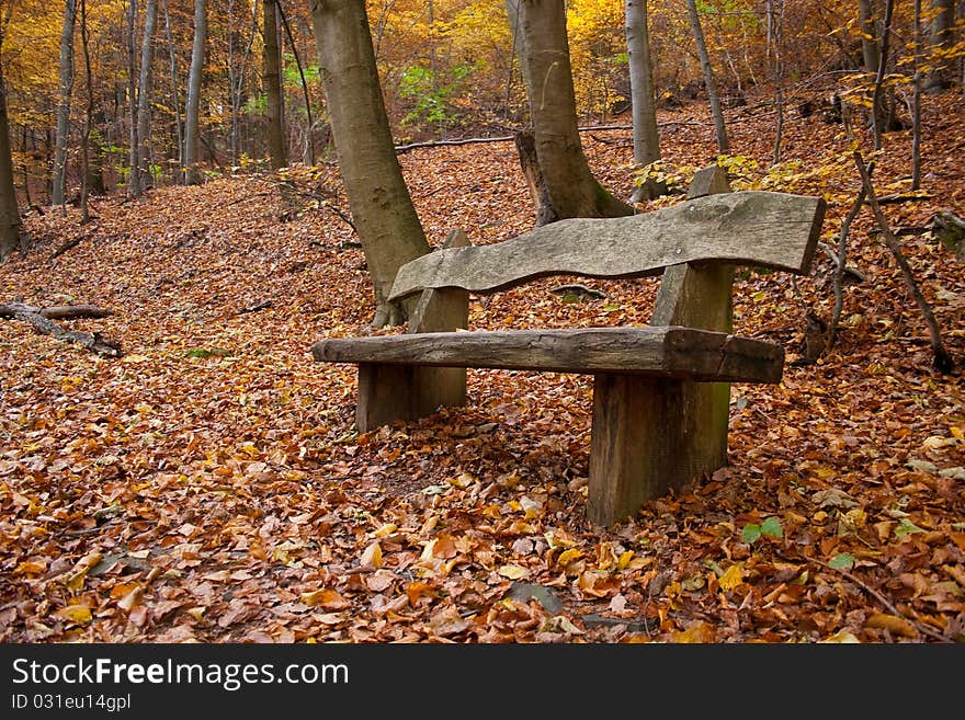
POLYGON ((632 206, 597 182, 583 155, 563 0, 521 0, 519 24, 536 157, 556 215, 560 219, 633 215, 632 206))

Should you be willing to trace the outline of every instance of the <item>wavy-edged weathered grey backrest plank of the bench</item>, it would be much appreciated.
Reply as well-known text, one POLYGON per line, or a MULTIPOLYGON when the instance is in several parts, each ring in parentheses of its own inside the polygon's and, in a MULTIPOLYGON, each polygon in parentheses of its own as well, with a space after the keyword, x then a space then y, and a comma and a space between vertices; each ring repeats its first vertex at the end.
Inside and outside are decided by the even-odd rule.
POLYGON ((820 235, 820 197, 745 191, 620 218, 570 218, 491 245, 431 252, 399 268, 390 299, 428 287, 492 293, 546 275, 643 277, 723 261, 805 273, 820 235))

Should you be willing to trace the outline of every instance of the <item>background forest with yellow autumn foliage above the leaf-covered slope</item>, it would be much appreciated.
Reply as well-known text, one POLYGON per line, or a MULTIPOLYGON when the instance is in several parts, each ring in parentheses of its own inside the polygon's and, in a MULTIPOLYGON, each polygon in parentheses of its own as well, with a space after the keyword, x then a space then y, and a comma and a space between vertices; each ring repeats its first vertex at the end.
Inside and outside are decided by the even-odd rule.
MULTIPOLYGON (((647 4, 658 106, 706 98, 686 3, 647 4)), ((906 123, 915 72, 932 89, 962 76, 955 2, 926 2, 916 27, 918 4, 896 3, 889 19, 885 78, 906 123)), ((883 21, 873 0, 695 7, 725 107, 775 92, 813 112, 824 112, 832 93, 869 102, 883 21)), ((520 38, 502 2, 390 0, 367 10, 397 142, 525 126, 520 38)), ((308 2, 3 0, 0 11, 14 182, 25 207, 78 196, 84 136, 93 194, 138 194, 183 180, 189 169, 214 178, 265 168, 272 142, 283 153, 275 167, 332 157, 308 2)), ((581 124, 626 122, 625 20, 617 0, 567 3, 581 124)))

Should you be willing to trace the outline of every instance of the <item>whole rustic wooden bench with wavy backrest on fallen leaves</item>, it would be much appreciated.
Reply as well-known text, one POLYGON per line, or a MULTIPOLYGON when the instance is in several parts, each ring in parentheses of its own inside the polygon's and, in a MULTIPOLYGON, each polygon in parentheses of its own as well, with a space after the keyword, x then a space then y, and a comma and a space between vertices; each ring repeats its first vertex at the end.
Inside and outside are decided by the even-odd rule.
POLYGON ((405 334, 331 338, 318 362, 359 365, 355 425, 371 431, 466 402, 466 368, 593 375, 588 517, 612 525, 727 462, 730 382, 780 382, 780 345, 733 331, 736 265, 808 272, 825 203, 730 193, 716 165, 689 199, 632 217, 560 220, 470 247, 462 232, 404 265, 390 298, 421 294, 405 334), (549 275, 662 273, 649 327, 457 331, 470 293, 549 275))

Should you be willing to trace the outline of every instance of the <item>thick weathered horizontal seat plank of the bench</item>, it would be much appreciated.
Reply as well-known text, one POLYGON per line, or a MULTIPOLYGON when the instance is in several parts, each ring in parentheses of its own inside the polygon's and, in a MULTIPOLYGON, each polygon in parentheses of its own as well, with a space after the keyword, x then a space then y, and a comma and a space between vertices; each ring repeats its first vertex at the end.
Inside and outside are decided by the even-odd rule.
POLYGON ((632 374, 689 380, 780 382, 784 348, 678 325, 433 332, 332 338, 316 361, 373 365, 632 374))

